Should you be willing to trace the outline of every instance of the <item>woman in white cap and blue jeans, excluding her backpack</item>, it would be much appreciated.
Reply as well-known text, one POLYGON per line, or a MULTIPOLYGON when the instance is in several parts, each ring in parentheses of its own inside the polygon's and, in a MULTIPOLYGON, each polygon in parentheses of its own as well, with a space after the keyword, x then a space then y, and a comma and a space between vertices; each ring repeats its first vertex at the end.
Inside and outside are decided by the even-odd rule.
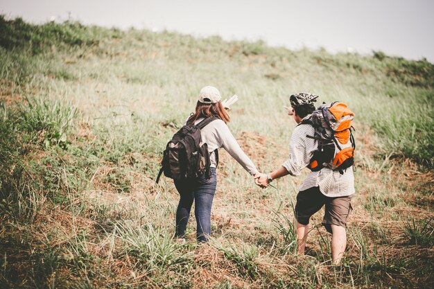
POLYGON ((216 87, 203 87, 200 90, 196 112, 187 120, 187 124, 196 125, 208 116, 218 117, 217 120, 212 121, 200 130, 202 142, 207 143, 210 153, 211 177, 209 179, 204 176, 197 179, 175 180, 175 187, 180 193, 180 202, 176 211, 175 238, 184 238, 194 200, 197 222, 196 237, 200 243, 208 241, 207 236, 211 234, 211 206, 217 186, 215 150, 225 148, 229 155, 236 159, 250 175, 255 178, 261 175, 249 157, 241 150, 227 127, 226 123, 229 122, 229 115, 220 99, 220 91, 216 87))

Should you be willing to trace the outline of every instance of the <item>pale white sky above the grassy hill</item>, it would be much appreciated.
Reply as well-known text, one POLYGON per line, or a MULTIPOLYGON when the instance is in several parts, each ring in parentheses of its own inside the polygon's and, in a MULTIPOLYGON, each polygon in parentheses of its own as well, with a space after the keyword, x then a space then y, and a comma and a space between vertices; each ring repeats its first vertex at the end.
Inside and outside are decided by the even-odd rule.
POLYGON ((43 23, 167 29, 335 53, 383 51, 434 62, 431 0, 0 0, 0 13, 43 23))

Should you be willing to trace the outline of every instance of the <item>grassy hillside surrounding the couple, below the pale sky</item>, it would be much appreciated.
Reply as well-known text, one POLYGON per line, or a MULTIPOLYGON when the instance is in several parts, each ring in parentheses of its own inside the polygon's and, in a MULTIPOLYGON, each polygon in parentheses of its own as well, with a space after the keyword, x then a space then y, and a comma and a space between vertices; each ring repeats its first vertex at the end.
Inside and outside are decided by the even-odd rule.
POLYGON ((426 60, 0 17, 1 288, 432 288, 433 104, 426 60), (294 254, 304 176, 261 190, 223 150, 213 240, 194 218, 171 240, 177 191, 154 179, 205 85, 238 94, 229 128, 263 171, 287 157, 290 94, 355 112, 341 266, 320 213, 294 254))

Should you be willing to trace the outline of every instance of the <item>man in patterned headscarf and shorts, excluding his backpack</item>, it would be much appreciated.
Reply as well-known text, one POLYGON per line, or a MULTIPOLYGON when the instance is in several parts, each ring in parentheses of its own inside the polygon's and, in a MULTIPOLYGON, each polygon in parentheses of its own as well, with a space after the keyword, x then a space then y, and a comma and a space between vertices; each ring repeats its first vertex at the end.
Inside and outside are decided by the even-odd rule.
MULTIPOLYGON (((293 131, 289 143, 289 158, 280 168, 261 175, 256 179, 260 186, 268 186, 273 179, 284 175, 300 175, 303 168, 309 165, 313 152, 318 149, 315 139, 308 137, 314 135, 314 128, 309 123, 302 123, 308 119, 315 110, 315 94, 300 93, 290 96, 291 108, 289 115, 293 115, 299 123, 293 131)), ((309 219, 325 205, 325 214, 322 225, 331 233, 331 257, 333 263, 338 265, 347 246, 347 218, 351 212, 351 195, 354 193, 354 175, 352 167, 342 174, 330 168, 312 171, 307 175, 297 194, 295 217, 297 219, 297 245, 298 254, 304 255, 306 238, 309 232, 309 219)))

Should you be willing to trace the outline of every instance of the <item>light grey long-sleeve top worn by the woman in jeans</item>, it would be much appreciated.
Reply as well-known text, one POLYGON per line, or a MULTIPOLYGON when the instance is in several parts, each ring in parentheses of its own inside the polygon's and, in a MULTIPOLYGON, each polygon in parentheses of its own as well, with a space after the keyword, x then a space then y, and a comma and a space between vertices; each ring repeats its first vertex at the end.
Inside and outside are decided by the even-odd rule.
MULTIPOLYGON (((195 121, 195 125, 200 123, 203 119, 198 119, 195 121)), ((226 123, 221 119, 211 121, 205 128, 200 130, 200 137, 202 143, 207 143, 209 153, 214 152, 218 148, 224 148, 231 157, 233 157, 238 164, 241 164, 245 170, 254 175, 258 173, 256 166, 250 158, 245 155, 245 152, 240 148, 240 145, 232 135, 232 132, 227 127, 226 123)), ((216 156, 215 154, 210 155, 211 166, 216 167, 216 156)))

